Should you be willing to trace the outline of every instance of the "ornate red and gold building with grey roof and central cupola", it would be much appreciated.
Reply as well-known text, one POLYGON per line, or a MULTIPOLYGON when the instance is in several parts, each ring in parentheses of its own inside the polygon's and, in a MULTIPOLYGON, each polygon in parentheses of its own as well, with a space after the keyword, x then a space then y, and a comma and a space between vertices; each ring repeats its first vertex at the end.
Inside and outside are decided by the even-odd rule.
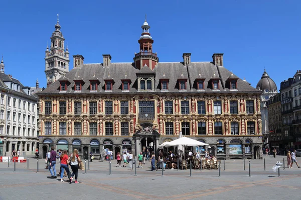
POLYGON ((104 54, 102 63, 86 64, 74 55, 73 69, 39 92, 43 156, 52 145, 78 148, 83 157, 105 148, 137 155, 182 131, 219 158, 262 158, 261 91, 227 70, 223 53, 212 61, 191 62, 183 53, 182 61, 159 62, 150 26, 141 27, 133 62, 104 54))

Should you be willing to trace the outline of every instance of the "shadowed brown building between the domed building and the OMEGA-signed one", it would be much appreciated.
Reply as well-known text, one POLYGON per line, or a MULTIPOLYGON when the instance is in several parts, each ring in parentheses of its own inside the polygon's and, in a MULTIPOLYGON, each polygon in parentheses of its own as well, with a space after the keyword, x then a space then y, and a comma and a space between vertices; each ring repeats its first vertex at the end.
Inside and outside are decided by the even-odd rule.
POLYGON ((289 137, 282 133, 282 117, 281 117, 281 94, 277 93, 271 96, 267 102, 268 108, 268 146, 270 148, 285 149, 289 142, 289 137))

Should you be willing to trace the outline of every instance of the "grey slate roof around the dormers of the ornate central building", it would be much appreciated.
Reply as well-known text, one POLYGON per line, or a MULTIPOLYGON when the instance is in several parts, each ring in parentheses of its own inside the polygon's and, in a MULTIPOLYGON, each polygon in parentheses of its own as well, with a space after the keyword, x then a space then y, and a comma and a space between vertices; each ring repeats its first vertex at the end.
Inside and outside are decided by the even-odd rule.
POLYGON ((66 78, 68 78, 68 80, 71 82, 71 84, 68 85, 67 93, 73 93, 74 80, 78 77, 78 74, 80 74, 80 77, 84 81, 81 93, 90 93, 89 80, 91 80, 91 77, 93 77, 94 74, 100 82, 97 92, 109 93, 108 91, 104 90, 104 80, 112 79, 114 83, 111 93, 139 93, 139 91, 137 91, 137 75, 139 75, 140 73, 155 73, 150 74, 155 75, 155 91, 143 91, 141 93, 162 92, 160 89, 160 79, 169 79, 168 92, 216 92, 216 90, 212 90, 210 87, 210 81, 212 81, 212 78, 220 79, 219 92, 229 92, 232 91, 230 90, 230 88, 226 87, 229 76, 233 78, 235 77, 235 79, 238 78, 236 92, 261 92, 260 90, 255 89, 254 87, 249 85, 248 82, 243 81, 236 75, 232 74, 232 72, 227 70, 225 67, 215 66, 211 62, 191 62, 189 66, 185 66, 183 62, 159 62, 154 70, 151 70, 145 65, 139 70, 135 68, 134 63, 131 62, 111 62, 109 66, 103 66, 103 63, 82 64, 79 67, 70 70, 65 74, 65 77, 63 76, 57 81, 53 82, 38 94, 59 93, 60 80, 63 80, 63 78, 65 80, 66 78), (195 80, 198 78, 205 79, 204 91, 197 90, 195 80), (121 79, 130 79, 129 91, 122 92, 121 79), (179 90, 179 86, 177 85, 178 79, 187 79, 186 91, 179 90))

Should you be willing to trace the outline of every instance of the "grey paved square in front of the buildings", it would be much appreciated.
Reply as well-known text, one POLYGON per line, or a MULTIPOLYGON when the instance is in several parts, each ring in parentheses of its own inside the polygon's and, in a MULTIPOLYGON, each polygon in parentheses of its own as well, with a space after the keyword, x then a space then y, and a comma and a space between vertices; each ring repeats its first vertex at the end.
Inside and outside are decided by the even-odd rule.
MULTIPOLYGON (((27 163, 0 162, 0 199, 301 199, 301 168, 280 168, 272 171, 277 160, 283 162, 284 156, 264 155, 263 160, 225 160, 221 162, 220 177, 218 170, 166 169, 150 171, 150 162, 146 161, 143 168, 137 168, 137 175, 131 167, 115 167, 116 160, 112 160, 111 175, 109 162, 90 162, 90 170, 79 170, 80 183, 70 184, 60 182, 60 178, 50 179, 49 170, 45 169, 44 159, 39 159, 39 173, 37 173, 37 159, 29 159, 27 163), (251 163, 251 177, 249 177, 248 161, 251 163)), ((286 158, 285 158, 286 159, 286 158)), ((59 165, 56 170, 59 172, 59 165)), ((301 159, 300 159, 301 165, 301 159)), ((88 161, 86 163, 88 168, 88 161)), ((286 167, 285 160, 285 167, 286 167)), ((67 180, 65 178, 65 180, 67 180)))

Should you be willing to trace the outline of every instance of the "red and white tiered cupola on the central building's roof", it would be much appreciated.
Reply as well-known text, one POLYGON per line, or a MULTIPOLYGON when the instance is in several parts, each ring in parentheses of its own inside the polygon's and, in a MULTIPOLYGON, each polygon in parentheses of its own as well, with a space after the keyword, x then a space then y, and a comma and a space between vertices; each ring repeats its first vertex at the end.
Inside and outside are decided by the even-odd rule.
POLYGON ((138 40, 138 43, 140 44, 140 52, 135 53, 135 67, 141 69, 144 65, 147 65, 150 69, 153 70, 158 64, 159 58, 157 57, 157 52, 153 53, 154 40, 152 39, 149 33, 150 26, 146 22, 146 15, 145 21, 141 28, 142 33, 140 39, 138 40))

